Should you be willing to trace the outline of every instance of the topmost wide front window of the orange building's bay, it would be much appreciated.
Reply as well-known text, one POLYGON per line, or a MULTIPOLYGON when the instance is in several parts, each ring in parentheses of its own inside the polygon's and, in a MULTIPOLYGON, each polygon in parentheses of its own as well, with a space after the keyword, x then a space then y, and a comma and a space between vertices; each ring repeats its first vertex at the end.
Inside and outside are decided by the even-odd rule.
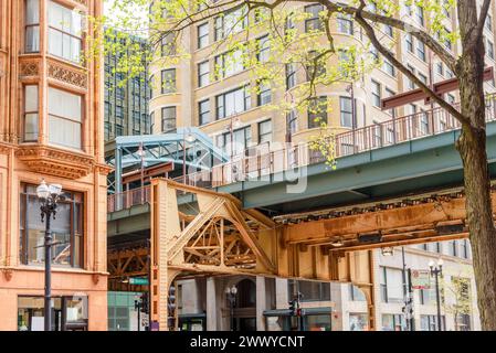
POLYGON ((49 53, 74 63, 82 50, 82 15, 49 1, 49 53))

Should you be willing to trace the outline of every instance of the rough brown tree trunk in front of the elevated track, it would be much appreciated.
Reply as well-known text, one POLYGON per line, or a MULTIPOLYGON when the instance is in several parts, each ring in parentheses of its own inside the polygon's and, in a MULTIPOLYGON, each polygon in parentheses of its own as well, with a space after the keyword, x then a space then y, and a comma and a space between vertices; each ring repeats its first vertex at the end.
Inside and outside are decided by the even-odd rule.
POLYGON ((490 175, 486 152, 483 36, 474 0, 458 1, 463 54, 457 62, 463 124, 456 143, 464 167, 466 224, 473 253, 477 304, 483 330, 496 331, 496 228, 490 201, 490 175))

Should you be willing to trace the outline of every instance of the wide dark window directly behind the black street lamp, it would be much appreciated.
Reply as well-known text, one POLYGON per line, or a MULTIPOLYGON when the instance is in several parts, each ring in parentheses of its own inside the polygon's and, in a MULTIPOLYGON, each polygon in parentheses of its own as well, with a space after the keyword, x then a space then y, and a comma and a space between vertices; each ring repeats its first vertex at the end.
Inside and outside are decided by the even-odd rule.
MULTIPOLYGON (((44 264, 45 223, 41 222, 36 185, 21 184, 20 195, 20 257, 24 265, 44 264)), ((54 239, 52 263, 82 267, 84 253, 83 194, 64 190, 56 217, 51 220, 54 239)))

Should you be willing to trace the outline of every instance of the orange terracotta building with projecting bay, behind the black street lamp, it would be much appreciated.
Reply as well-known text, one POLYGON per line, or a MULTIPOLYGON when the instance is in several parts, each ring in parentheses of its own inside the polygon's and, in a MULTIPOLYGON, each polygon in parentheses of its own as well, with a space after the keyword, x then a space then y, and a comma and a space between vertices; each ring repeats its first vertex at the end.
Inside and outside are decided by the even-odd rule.
POLYGON ((106 330, 103 67, 82 65, 99 0, 0 2, 0 330, 43 330, 36 186, 62 185, 52 221, 54 330, 106 330))

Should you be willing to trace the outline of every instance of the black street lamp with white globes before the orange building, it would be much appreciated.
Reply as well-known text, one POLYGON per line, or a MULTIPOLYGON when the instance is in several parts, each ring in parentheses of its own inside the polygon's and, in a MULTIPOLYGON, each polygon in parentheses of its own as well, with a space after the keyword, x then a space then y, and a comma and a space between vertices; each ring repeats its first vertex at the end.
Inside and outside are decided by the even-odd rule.
POLYGON ((50 229, 50 220, 55 220, 56 202, 62 195, 62 186, 60 184, 46 185, 44 179, 36 188, 36 195, 40 200, 41 222, 45 220, 45 296, 44 296, 44 321, 45 331, 52 331, 52 232, 50 229))

